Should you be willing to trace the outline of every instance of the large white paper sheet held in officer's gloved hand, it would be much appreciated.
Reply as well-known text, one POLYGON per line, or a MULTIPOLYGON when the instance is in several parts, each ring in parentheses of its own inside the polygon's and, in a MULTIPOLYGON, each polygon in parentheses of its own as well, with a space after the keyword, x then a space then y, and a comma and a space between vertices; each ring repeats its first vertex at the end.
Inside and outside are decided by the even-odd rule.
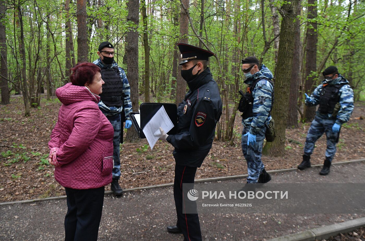
POLYGON ((148 144, 150 144, 151 150, 161 136, 160 127, 164 129, 165 133, 168 133, 174 127, 163 105, 143 128, 143 133, 148 144))

